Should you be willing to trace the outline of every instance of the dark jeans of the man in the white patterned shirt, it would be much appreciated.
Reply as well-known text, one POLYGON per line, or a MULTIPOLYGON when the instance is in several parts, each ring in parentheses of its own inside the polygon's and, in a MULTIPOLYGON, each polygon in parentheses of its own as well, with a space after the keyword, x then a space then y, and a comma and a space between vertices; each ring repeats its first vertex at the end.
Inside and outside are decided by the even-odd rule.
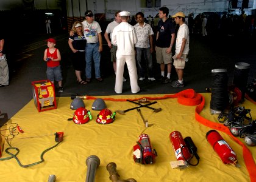
POLYGON ((146 66, 148 67, 148 77, 152 78, 153 77, 153 62, 152 62, 152 55, 150 52, 150 48, 140 48, 136 47, 136 52, 137 52, 137 62, 138 62, 138 70, 140 77, 144 78, 145 77, 145 69, 141 66, 141 55, 143 53, 144 59, 146 61, 146 66))

